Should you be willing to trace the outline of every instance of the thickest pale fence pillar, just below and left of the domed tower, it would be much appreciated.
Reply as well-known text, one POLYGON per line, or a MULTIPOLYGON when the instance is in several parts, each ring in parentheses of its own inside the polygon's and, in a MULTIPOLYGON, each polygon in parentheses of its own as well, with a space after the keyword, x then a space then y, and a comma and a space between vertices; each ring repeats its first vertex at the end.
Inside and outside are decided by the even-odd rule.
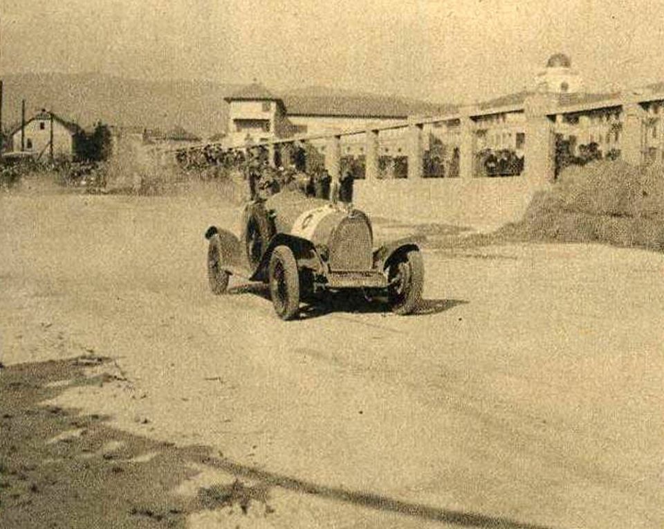
POLYGON ((553 121, 555 94, 533 93, 524 102, 526 114, 526 145, 524 175, 536 183, 553 181, 555 177, 555 136, 553 121))

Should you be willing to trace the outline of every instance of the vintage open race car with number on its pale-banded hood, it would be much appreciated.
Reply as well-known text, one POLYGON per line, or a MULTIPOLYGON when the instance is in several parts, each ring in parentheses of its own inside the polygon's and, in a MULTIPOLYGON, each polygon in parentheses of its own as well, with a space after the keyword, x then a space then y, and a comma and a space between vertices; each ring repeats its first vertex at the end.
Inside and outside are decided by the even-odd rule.
POLYGON ((421 299, 424 264, 417 241, 374 249, 369 218, 347 204, 285 190, 246 204, 242 226, 239 237, 218 226, 205 232, 214 294, 227 292, 231 275, 268 283, 284 320, 297 315, 302 298, 321 291, 380 291, 397 314, 412 313, 421 299))

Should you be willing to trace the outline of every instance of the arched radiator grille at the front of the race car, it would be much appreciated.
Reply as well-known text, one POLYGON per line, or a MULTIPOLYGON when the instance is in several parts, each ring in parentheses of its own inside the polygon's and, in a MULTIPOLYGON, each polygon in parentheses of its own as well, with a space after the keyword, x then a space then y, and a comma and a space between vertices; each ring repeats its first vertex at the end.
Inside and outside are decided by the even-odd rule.
POLYGON ((330 242, 332 271, 371 270, 371 228, 365 217, 346 217, 335 229, 330 242))

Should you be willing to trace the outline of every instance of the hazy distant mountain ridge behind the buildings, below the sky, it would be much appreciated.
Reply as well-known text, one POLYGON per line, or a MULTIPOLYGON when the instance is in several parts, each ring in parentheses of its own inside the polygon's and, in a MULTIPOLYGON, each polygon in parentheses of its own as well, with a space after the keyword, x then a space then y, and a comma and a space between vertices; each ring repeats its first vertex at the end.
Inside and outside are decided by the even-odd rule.
MULTIPOLYGON (((42 108, 84 128, 97 121, 122 127, 160 129, 182 127, 208 138, 225 132, 228 124, 226 96, 243 84, 203 80, 150 81, 113 77, 102 73, 15 73, 3 75, 3 128, 20 123, 21 99, 29 118, 42 108)), ((306 108, 351 108, 369 105, 407 107, 412 113, 435 112, 449 105, 434 105, 407 98, 380 96, 346 89, 306 87, 279 96, 306 108)), ((288 107, 288 105, 287 105, 288 107)))

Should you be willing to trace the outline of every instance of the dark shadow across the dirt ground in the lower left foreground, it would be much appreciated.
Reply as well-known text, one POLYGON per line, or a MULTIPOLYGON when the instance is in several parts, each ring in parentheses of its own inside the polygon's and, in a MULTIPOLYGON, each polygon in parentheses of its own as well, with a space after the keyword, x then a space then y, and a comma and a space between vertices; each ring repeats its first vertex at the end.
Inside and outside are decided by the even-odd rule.
MULTIPOLYGON (((188 515, 224 506, 269 517, 275 512, 269 492, 280 487, 460 527, 546 529, 268 472, 212 456, 210 447, 176 447, 115 429, 100 415, 79 415, 73 409, 39 404, 64 391, 65 386, 49 383, 69 380, 69 387, 117 384, 118 378, 112 375, 86 377, 83 373, 86 366, 101 367, 107 361, 82 357, 0 368, 1 527, 142 527, 147 523, 184 528, 188 515), (146 454, 149 457, 142 458, 146 454), (199 487, 194 497, 174 494, 179 484, 198 474, 192 463, 221 469, 234 482, 199 487), (246 485, 243 479, 256 483, 246 485)), ((145 418, 141 424, 150 421, 145 418)))

